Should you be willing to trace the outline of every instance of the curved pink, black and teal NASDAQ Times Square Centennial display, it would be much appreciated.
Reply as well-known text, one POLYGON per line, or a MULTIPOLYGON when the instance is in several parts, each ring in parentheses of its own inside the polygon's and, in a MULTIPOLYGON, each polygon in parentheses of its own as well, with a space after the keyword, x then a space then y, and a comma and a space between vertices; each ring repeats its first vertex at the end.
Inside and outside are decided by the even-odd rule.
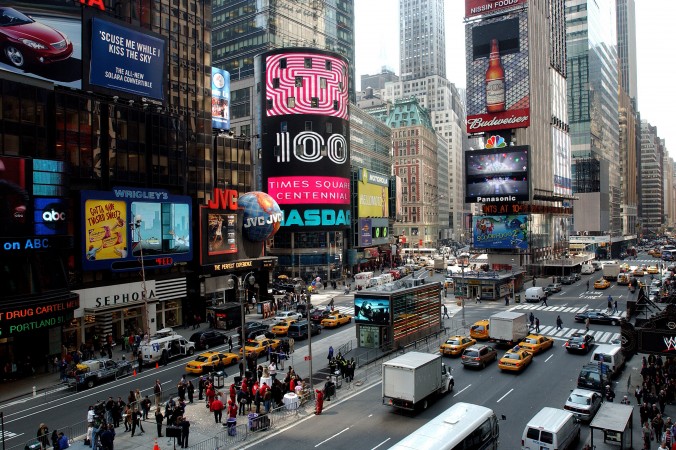
POLYGON ((262 185, 287 229, 351 225, 347 69, 342 56, 317 49, 256 56, 262 185))

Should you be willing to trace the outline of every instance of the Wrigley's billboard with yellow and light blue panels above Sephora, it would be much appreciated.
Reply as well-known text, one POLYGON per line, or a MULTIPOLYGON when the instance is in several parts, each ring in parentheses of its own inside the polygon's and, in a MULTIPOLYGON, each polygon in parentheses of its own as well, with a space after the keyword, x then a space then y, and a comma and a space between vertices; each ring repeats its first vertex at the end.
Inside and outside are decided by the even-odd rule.
POLYGON ((192 260, 190 197, 159 189, 82 191, 84 270, 138 270, 192 260))

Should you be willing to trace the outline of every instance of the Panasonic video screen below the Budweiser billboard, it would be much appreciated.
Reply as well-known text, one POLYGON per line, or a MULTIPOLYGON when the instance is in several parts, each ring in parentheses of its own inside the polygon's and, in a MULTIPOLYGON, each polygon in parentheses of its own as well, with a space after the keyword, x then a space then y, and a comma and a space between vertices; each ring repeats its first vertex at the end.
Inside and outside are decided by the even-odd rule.
POLYGON ((529 200, 528 145, 465 153, 466 203, 529 200))

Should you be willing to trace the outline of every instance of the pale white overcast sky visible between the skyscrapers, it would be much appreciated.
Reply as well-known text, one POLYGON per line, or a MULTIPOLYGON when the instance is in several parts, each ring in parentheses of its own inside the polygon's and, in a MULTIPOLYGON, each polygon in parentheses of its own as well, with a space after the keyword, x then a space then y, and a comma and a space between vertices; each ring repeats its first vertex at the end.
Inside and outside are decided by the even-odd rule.
MULTIPOLYGON (((465 87, 465 2, 446 0, 446 78, 465 87)), ((376 74, 387 66, 399 75, 399 1, 355 0, 356 76, 376 74)), ((674 0, 636 0, 638 102, 641 118, 657 126, 670 154, 676 155, 674 89, 669 80, 676 58, 668 30, 676 19, 674 0), (665 101, 665 97, 666 100, 665 101)))

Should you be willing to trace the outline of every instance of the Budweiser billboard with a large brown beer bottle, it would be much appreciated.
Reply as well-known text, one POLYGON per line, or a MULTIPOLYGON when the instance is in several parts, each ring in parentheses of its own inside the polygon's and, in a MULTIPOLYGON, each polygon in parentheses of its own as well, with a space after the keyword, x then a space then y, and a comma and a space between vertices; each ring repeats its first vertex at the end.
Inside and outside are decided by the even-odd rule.
POLYGON ((528 13, 466 25, 467 132, 530 125, 528 13))

